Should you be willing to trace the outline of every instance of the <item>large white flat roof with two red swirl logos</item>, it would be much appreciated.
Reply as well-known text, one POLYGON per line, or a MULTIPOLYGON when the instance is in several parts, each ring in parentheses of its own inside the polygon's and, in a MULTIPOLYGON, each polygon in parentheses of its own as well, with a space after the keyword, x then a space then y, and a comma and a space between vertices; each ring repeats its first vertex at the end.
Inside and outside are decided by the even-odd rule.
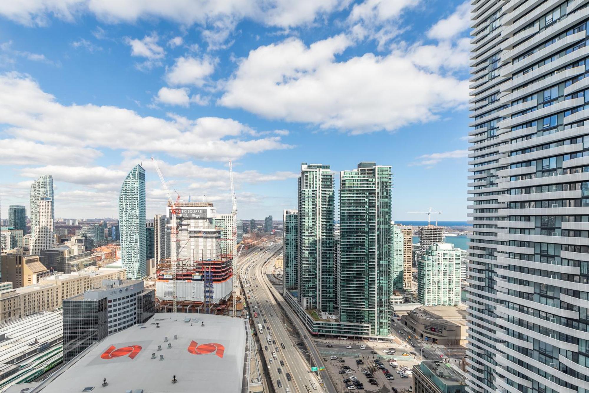
POLYGON ((94 388, 101 393, 135 389, 239 393, 246 377, 246 323, 219 315, 156 313, 148 323, 128 327, 90 346, 41 382, 36 392, 78 393, 94 388), (101 386, 103 378, 108 383, 105 387, 101 386))

